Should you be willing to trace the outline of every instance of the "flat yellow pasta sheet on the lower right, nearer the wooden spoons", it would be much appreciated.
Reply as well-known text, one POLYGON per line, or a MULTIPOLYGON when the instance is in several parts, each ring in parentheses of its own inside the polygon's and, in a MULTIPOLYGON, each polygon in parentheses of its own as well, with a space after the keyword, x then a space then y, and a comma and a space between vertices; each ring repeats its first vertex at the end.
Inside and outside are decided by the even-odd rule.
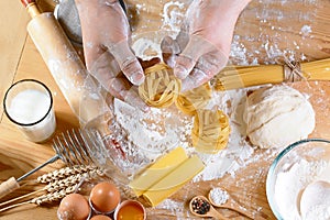
POLYGON ((173 169, 164 178, 151 186, 144 194, 143 198, 152 206, 157 206, 161 201, 176 193, 186 183, 194 178, 204 169, 205 165, 198 156, 187 158, 178 167, 173 169))

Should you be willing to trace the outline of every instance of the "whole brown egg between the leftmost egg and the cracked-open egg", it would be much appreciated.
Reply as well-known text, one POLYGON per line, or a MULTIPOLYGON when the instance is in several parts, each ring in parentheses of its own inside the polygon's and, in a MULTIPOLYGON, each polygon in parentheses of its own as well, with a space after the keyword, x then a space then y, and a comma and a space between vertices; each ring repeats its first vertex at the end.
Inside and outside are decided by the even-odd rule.
POLYGON ((111 212, 120 202, 120 193, 113 184, 102 182, 91 189, 89 199, 97 211, 111 212))

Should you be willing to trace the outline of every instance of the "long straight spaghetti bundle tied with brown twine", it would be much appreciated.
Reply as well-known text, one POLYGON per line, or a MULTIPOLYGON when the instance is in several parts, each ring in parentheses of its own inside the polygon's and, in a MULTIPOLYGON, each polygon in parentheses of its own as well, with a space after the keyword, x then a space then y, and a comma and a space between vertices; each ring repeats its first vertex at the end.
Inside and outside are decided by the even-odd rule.
POLYGON ((212 79, 216 90, 299 80, 330 80, 330 58, 284 65, 228 66, 212 79))

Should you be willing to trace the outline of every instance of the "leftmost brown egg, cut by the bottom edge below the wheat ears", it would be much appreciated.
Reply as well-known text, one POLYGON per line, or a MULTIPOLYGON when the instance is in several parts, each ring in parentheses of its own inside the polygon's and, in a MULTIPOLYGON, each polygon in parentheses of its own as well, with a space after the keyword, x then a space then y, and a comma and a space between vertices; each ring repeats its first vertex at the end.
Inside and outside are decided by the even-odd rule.
POLYGON ((80 194, 69 194, 64 197, 57 209, 59 220, 86 220, 90 207, 87 199, 80 194))

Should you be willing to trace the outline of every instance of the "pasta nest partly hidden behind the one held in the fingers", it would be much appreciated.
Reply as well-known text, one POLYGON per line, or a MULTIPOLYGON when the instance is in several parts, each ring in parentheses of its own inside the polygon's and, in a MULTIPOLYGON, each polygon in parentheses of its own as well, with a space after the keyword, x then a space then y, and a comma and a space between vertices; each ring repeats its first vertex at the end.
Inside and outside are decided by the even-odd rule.
POLYGON ((193 90, 180 94, 175 100, 176 107, 184 113, 194 116, 197 110, 204 109, 212 97, 210 85, 204 84, 193 90))

